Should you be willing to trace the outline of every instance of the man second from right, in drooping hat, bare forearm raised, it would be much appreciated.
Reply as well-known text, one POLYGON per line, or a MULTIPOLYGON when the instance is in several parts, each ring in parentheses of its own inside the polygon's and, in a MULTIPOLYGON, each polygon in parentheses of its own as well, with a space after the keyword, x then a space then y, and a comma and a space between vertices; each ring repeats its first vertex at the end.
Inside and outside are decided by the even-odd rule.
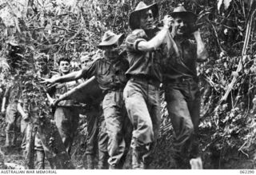
POLYGON ((134 126, 131 143, 133 169, 149 168, 161 120, 158 89, 162 74, 159 62, 164 53, 161 45, 169 32, 171 18, 165 16, 159 31, 153 25, 157 15, 156 3, 146 6, 139 2, 129 18, 133 31, 126 38, 130 68, 126 71, 129 81, 124 89, 124 98, 134 126))

